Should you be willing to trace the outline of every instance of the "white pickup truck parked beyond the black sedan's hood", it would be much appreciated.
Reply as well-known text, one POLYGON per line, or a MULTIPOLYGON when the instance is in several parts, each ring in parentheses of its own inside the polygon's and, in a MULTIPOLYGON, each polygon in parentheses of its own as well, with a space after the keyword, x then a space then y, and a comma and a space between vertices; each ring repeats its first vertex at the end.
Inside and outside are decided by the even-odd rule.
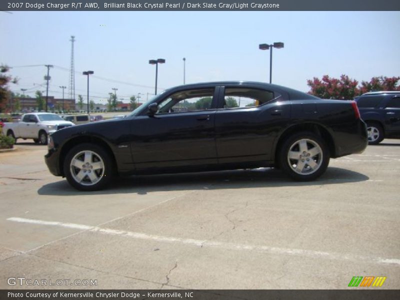
POLYGON ((58 129, 72 126, 73 123, 64 120, 59 115, 49 112, 25 113, 17 123, 5 122, 3 133, 15 138, 33 138, 35 143, 47 144, 48 134, 58 129))

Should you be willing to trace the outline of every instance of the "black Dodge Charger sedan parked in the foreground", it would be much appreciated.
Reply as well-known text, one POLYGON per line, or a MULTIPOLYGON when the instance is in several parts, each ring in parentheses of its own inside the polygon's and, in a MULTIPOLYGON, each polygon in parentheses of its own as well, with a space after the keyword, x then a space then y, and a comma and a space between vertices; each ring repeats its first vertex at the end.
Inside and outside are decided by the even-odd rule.
POLYGON ((169 88, 126 117, 58 130, 45 161, 80 190, 101 189, 116 174, 253 167, 280 167, 296 180, 313 180, 330 157, 366 145, 354 101, 226 81, 169 88))

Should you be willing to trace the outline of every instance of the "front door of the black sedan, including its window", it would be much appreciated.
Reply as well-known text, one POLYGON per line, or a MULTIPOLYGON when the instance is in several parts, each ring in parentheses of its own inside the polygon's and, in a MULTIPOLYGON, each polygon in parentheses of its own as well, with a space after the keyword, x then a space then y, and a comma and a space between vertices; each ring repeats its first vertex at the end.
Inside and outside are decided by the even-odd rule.
POLYGON ((214 88, 167 94, 153 115, 131 121, 131 151, 136 169, 217 163, 214 88))

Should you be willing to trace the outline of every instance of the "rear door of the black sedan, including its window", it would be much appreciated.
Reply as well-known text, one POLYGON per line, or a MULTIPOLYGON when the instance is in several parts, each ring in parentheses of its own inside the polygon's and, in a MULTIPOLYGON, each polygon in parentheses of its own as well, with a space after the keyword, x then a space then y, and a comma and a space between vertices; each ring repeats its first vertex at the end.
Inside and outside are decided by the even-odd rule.
POLYGON ((215 115, 219 163, 268 161, 272 145, 290 117, 284 91, 222 86, 215 115))

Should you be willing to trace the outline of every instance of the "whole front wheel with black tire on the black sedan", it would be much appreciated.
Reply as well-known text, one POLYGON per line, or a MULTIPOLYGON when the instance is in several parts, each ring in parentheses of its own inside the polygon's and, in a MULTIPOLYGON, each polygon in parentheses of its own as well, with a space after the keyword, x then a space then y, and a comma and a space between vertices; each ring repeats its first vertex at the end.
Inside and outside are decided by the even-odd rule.
POLYGON ((63 168, 68 183, 83 191, 103 189, 110 183, 115 173, 113 160, 108 152, 101 146, 91 143, 78 144, 70 149, 63 168))

